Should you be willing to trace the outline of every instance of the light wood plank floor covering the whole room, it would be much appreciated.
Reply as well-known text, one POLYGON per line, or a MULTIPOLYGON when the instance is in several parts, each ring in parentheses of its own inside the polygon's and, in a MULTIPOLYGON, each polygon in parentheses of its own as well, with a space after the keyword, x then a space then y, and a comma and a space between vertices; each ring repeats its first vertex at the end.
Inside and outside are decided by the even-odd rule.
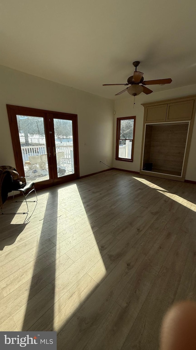
POLYGON ((1 215, 0 330, 158 350, 167 308, 196 300, 195 203, 193 184, 111 170, 40 191, 28 224, 1 215))

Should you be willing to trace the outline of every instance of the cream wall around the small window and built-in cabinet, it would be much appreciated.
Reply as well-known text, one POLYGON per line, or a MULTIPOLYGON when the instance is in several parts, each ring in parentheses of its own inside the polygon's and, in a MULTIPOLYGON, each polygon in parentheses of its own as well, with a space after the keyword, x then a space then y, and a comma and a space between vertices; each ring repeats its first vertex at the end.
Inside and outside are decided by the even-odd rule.
MULTIPOLYGON (((141 93, 135 98, 135 106, 133 108, 133 97, 130 96, 126 99, 116 100, 114 110, 116 114, 114 116, 114 158, 115 158, 115 139, 116 139, 116 118, 136 116, 136 128, 135 128, 135 144, 134 144, 134 161, 123 162, 114 159, 113 166, 119 169, 126 170, 140 170, 141 159, 141 147, 142 147, 142 131, 143 131, 143 117, 144 107, 141 103, 160 101, 169 98, 176 98, 182 96, 189 96, 196 94, 196 85, 189 85, 178 87, 176 89, 165 90, 161 92, 153 92, 150 95, 141 93)), ((189 159, 186 172, 186 180, 196 181, 196 118, 194 122, 193 135, 191 139, 191 146, 189 152, 189 159)))

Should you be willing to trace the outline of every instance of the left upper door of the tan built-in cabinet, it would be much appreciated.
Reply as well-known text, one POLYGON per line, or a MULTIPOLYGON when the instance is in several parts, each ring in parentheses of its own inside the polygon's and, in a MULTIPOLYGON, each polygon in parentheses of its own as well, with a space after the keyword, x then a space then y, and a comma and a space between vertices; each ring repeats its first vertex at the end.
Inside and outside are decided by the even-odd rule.
POLYGON ((146 123, 156 123, 166 120, 167 105, 151 106, 145 108, 144 120, 146 123))

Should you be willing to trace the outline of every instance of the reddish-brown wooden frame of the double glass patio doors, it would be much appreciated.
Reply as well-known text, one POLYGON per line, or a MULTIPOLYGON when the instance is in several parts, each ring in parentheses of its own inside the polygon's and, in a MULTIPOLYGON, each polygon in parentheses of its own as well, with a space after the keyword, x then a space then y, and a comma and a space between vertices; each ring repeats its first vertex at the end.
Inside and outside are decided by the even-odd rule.
MULTIPOLYGON (((6 105, 7 107, 7 113, 8 113, 8 120, 9 120, 9 126, 10 126, 10 133, 12 137, 12 145, 13 145, 13 151, 14 151, 14 158, 15 158, 15 163, 16 163, 16 169, 20 176, 25 176, 24 174, 24 167, 23 167, 23 159, 22 159, 22 152, 18 152, 18 150, 21 150, 21 143, 20 143, 20 138, 19 138, 19 131, 18 131, 18 125, 17 125, 17 119, 16 119, 16 114, 20 115, 29 115, 33 117, 42 117, 44 118, 45 121, 45 138, 47 145, 51 147, 51 152, 52 152, 52 147, 55 145, 52 144, 52 137, 51 134, 49 133, 50 131, 50 121, 49 121, 49 116, 51 114, 57 115, 58 118, 60 119, 73 119, 74 118, 74 135, 73 135, 73 144, 75 145, 74 148, 74 179, 73 176, 71 177, 70 175, 63 176, 59 178, 59 181, 54 181, 54 171, 53 167, 49 166, 49 159, 48 159, 48 172, 50 174, 50 179, 45 180, 45 181, 40 181, 35 183, 36 189, 43 189, 47 188, 50 186, 54 186, 58 183, 64 183, 68 182, 71 180, 76 180, 80 178, 80 168, 79 168, 79 149, 78 149, 78 124, 77 124, 77 114, 71 114, 71 113, 63 113, 63 112, 56 112, 56 111, 50 111, 50 110, 42 110, 42 109, 37 109, 37 108, 31 108, 31 107, 23 107, 23 106, 16 106, 16 105, 6 105)), ((48 150, 47 150, 48 151, 48 150)), ((48 152, 47 152, 48 153, 48 152)), ((53 163, 53 161, 52 161, 53 163)), ((71 174, 73 175, 73 174, 71 174)))

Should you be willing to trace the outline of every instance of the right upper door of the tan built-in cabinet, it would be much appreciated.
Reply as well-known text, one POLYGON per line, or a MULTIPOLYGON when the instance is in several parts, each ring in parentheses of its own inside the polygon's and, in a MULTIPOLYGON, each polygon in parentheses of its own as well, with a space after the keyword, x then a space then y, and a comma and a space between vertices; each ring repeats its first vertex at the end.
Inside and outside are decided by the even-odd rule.
POLYGON ((191 120, 194 100, 176 102, 167 105, 167 121, 191 120))

